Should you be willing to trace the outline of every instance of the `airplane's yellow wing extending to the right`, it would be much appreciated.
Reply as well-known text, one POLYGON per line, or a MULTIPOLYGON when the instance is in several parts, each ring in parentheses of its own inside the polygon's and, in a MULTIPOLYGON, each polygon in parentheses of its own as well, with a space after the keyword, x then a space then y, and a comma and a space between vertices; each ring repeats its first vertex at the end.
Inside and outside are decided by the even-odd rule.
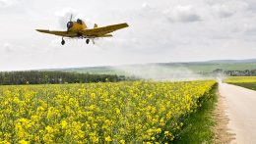
POLYGON ((85 29, 85 30, 82 30, 81 32, 85 36, 103 37, 107 33, 111 33, 115 30, 125 28, 128 26, 129 26, 128 24, 113 24, 113 25, 108 25, 108 26, 103 26, 103 27, 96 27, 93 29, 85 29))

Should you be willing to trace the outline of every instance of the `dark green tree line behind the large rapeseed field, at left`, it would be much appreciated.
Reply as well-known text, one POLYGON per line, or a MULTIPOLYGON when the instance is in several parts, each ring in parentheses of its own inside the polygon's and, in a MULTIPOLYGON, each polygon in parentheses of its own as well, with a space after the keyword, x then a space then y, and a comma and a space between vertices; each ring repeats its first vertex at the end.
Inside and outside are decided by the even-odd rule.
POLYGON ((116 82, 121 79, 111 74, 90 74, 78 72, 0 72, 1 85, 13 84, 57 84, 57 83, 89 83, 116 82))

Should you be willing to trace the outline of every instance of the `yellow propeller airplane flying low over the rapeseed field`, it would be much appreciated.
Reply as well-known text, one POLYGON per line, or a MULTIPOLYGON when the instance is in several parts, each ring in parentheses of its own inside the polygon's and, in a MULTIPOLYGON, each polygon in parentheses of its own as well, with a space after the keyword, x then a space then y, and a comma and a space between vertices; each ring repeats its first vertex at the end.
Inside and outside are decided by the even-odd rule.
POLYGON ((95 24, 94 28, 88 28, 88 26, 80 19, 77 20, 77 22, 72 21, 72 15, 70 16, 70 21, 67 23, 67 31, 51 31, 46 29, 36 29, 39 32, 48 33, 48 34, 54 34, 58 36, 62 36, 61 44, 65 44, 64 37, 70 37, 70 38, 86 38, 87 44, 89 44, 90 40, 93 41, 95 44, 95 39, 99 37, 112 37, 113 35, 110 34, 111 32, 128 27, 129 25, 124 24, 112 24, 107 25, 103 27, 98 27, 97 24, 95 24))

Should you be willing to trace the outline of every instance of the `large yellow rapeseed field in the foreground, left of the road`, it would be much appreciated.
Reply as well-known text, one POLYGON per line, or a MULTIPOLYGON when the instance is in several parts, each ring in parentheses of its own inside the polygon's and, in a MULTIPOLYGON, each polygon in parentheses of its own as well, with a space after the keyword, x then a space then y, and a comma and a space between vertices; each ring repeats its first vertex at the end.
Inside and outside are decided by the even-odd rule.
POLYGON ((163 143, 215 81, 0 86, 0 143, 163 143))

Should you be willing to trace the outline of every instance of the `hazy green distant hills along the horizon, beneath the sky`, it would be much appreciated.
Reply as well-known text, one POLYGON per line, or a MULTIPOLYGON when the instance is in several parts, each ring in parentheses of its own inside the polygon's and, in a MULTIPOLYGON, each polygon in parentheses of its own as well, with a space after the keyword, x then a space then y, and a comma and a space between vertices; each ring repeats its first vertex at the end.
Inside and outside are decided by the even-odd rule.
POLYGON ((256 59, 248 60, 214 60, 206 62, 182 62, 182 63, 153 63, 153 64, 136 64, 126 66, 105 66, 105 67, 83 67, 83 68, 68 68, 55 69, 47 71, 63 71, 63 72, 89 72, 89 73, 104 73, 104 74, 133 74, 133 72, 171 72, 180 70, 191 72, 213 72, 217 69, 224 71, 244 71, 255 70, 256 59))

